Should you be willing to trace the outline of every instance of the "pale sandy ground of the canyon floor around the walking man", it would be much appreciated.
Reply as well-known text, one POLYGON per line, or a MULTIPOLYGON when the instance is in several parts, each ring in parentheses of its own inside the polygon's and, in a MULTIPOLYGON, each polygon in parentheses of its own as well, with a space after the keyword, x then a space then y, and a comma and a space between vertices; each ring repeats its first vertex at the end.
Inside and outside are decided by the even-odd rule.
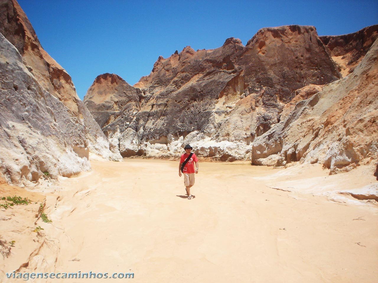
POLYGON ((200 162, 188 200, 178 162, 91 165, 34 188, 53 222, 36 222, 44 230, 29 236, 40 243, 31 255, 20 243, 0 258, 0 281, 17 282, 4 272, 21 263, 20 272, 133 272, 133 282, 378 281, 378 202, 337 193, 376 183, 366 167, 329 176, 318 165, 200 162))

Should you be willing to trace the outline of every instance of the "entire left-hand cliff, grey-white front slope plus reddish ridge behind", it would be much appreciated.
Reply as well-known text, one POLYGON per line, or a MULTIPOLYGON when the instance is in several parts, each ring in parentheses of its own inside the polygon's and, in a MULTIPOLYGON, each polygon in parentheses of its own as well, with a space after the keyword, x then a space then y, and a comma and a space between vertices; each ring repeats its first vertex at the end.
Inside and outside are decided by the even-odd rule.
POLYGON ((0 1, 0 22, 0 177, 69 177, 90 169, 90 151, 121 158, 17 2, 0 1))

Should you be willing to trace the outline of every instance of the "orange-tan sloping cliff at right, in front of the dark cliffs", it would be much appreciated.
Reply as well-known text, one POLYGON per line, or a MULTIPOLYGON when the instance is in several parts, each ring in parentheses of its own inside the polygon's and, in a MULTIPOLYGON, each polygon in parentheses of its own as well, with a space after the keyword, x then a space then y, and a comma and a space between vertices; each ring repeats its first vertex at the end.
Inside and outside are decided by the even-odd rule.
POLYGON ((378 160, 378 40, 349 76, 296 104, 252 145, 252 163, 322 163, 330 173, 378 160), (272 159, 275 161, 272 162, 272 159))

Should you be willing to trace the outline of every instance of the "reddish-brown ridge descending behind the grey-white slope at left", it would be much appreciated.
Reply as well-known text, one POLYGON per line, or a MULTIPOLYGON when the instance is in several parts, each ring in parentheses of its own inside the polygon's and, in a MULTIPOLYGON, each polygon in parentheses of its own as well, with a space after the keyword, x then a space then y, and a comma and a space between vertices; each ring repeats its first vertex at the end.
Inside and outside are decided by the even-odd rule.
POLYGON ((70 75, 42 48, 31 23, 15 0, 0 1, 0 32, 17 48, 24 65, 40 86, 64 103, 71 117, 81 125, 90 151, 118 160, 118 149, 109 149, 101 128, 77 97, 70 75))

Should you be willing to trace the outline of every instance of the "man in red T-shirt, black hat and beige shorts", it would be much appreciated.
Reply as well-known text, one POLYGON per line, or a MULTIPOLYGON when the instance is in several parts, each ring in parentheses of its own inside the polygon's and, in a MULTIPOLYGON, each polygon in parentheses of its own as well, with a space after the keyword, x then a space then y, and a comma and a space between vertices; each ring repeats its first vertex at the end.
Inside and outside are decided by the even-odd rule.
POLYGON ((185 153, 181 155, 180 165, 178 166, 178 175, 181 177, 181 172, 184 174, 186 194, 188 195, 188 200, 191 200, 190 188, 194 185, 194 173, 198 174, 198 159, 194 153, 191 153, 193 148, 190 145, 186 145, 184 149, 185 153))

